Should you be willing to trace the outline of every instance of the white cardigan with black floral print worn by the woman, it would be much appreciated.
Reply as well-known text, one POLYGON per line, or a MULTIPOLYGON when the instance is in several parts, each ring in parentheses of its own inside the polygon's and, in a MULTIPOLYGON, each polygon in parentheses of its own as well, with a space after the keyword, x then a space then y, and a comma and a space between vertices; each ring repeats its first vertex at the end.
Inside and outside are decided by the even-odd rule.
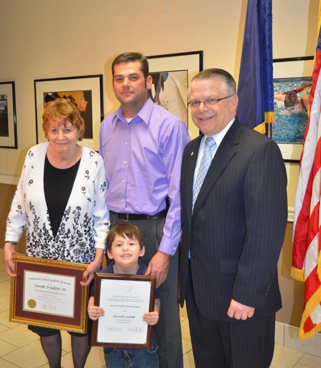
POLYGON ((83 147, 74 186, 54 238, 44 193, 48 144, 32 147, 26 156, 7 220, 6 240, 18 241, 27 228, 27 256, 88 264, 95 258, 95 248, 105 248, 109 229, 104 162, 95 151, 83 147))

